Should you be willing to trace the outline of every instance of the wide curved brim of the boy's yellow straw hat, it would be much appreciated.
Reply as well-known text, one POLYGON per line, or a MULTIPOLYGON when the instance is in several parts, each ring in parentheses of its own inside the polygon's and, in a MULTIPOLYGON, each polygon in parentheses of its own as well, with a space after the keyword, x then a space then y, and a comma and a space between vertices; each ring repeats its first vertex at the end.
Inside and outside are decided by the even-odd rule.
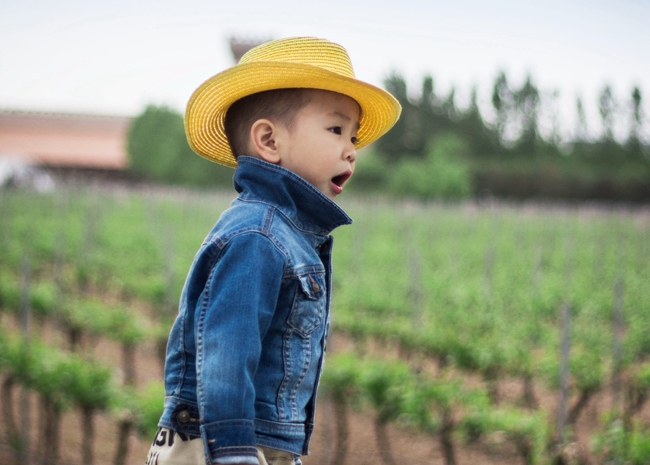
POLYGON ((385 90, 320 67, 287 62, 245 63, 212 76, 192 94, 185 112, 190 147, 208 160, 237 166, 225 135, 228 108, 248 95, 286 88, 329 90, 356 100, 361 107, 356 148, 385 134, 401 112, 399 102, 385 90))

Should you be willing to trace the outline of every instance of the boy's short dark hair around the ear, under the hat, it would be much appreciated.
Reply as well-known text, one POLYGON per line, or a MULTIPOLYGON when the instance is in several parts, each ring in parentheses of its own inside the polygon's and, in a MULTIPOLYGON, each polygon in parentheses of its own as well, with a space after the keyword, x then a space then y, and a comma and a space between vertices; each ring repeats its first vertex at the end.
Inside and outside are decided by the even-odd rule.
POLYGON ((246 154, 251 126, 258 119, 269 119, 292 130, 296 114, 307 105, 312 89, 289 88, 257 92, 237 100, 226 112, 226 137, 233 155, 246 154))

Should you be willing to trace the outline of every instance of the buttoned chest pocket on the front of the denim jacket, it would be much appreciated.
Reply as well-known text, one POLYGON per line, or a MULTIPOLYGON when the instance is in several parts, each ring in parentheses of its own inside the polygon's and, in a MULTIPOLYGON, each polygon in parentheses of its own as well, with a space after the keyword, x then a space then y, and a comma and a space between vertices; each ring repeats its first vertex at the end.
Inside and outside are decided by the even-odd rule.
POLYGON ((324 273, 298 276, 298 289, 293 299, 288 324, 304 337, 308 337, 325 319, 327 292, 324 273))

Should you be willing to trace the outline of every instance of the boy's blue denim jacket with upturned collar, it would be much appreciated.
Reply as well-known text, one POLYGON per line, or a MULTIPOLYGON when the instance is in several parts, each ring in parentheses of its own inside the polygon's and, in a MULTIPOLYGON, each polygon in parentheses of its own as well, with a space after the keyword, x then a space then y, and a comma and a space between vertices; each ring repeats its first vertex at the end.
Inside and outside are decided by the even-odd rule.
POLYGON ((240 157, 233 201, 187 276, 159 426, 201 436, 212 463, 256 445, 308 453, 329 330, 330 232, 352 220, 298 175, 240 157))

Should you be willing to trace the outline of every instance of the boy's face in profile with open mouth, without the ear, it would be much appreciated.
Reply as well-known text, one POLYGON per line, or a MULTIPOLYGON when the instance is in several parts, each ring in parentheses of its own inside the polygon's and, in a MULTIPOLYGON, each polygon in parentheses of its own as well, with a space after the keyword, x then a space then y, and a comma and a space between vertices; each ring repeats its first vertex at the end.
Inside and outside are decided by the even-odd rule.
POLYGON ((294 127, 281 127, 278 142, 280 166, 309 181, 330 199, 343 192, 354 173, 354 149, 361 109, 342 94, 311 91, 294 127))

